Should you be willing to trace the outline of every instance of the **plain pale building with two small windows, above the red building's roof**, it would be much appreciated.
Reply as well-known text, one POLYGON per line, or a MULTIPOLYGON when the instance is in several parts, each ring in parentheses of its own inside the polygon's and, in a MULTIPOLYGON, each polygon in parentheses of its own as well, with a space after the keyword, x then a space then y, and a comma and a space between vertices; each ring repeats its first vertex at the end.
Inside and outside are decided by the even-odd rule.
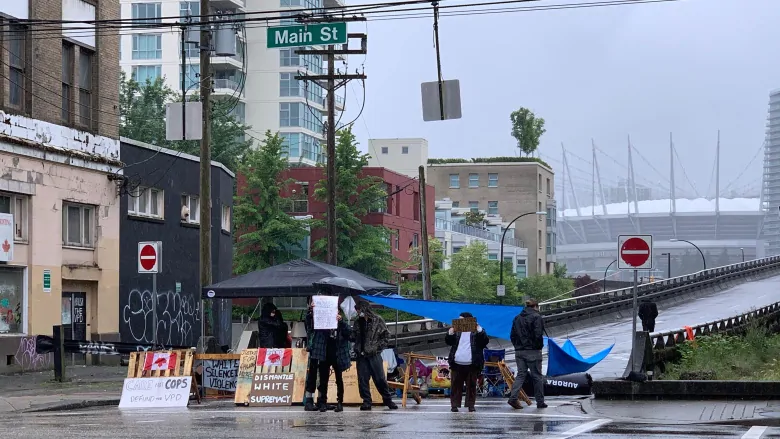
MULTIPOLYGON (((368 166, 387 168, 410 178, 420 175, 420 166, 428 163, 425 139, 368 139, 368 166)), ((426 172, 427 175, 427 172, 426 172)))

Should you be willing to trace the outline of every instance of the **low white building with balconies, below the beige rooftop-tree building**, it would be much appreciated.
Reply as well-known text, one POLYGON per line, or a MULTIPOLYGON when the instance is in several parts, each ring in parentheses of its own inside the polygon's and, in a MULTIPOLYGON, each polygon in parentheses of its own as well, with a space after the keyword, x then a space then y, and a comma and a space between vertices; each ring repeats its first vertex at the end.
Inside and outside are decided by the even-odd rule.
MULTIPOLYGON (((482 241, 488 247, 488 259, 498 260, 501 252, 501 234, 506 227, 499 215, 485 215, 483 227, 465 224, 465 214, 473 209, 452 207, 452 200, 436 201, 436 238, 444 247, 444 266, 449 268, 450 256, 474 241, 482 241)), ((485 211, 479 211, 485 214, 485 211)), ((514 224, 504 240, 504 263, 511 263, 518 278, 528 273, 528 249, 519 239, 513 238, 514 224)))

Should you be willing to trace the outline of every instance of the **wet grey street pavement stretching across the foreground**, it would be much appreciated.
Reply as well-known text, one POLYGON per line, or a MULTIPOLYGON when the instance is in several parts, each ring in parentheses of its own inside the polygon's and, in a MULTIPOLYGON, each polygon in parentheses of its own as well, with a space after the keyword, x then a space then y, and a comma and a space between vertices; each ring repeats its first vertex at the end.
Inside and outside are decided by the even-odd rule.
MULTIPOLYGON (((446 403, 446 401, 441 401, 446 403)), ((552 402, 552 401, 551 401, 552 402)), ((553 406, 553 404, 550 404, 553 406)), ((552 408, 552 407, 551 407, 552 408)), ((587 416, 512 411, 504 401, 477 413, 450 413, 441 404, 367 413, 305 413, 300 407, 37 413, 0 419, 3 438, 780 438, 780 428, 629 424, 587 416), (526 412, 526 413, 523 413, 526 412)))

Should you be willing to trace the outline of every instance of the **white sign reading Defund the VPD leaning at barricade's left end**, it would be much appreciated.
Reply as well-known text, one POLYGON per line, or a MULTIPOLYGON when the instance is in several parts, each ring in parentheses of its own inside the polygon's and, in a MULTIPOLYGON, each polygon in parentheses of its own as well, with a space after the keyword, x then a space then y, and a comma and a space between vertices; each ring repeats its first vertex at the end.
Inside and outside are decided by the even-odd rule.
POLYGON ((125 378, 120 409, 187 407, 192 377, 125 378))

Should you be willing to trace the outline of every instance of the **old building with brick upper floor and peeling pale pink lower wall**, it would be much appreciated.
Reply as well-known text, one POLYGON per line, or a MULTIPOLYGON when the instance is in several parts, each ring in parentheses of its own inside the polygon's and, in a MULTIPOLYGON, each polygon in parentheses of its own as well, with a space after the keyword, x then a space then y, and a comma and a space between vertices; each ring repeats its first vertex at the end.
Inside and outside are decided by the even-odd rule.
POLYGON ((50 367, 35 335, 117 340, 118 37, 24 21, 116 18, 119 0, 0 2, 0 372, 50 367))

